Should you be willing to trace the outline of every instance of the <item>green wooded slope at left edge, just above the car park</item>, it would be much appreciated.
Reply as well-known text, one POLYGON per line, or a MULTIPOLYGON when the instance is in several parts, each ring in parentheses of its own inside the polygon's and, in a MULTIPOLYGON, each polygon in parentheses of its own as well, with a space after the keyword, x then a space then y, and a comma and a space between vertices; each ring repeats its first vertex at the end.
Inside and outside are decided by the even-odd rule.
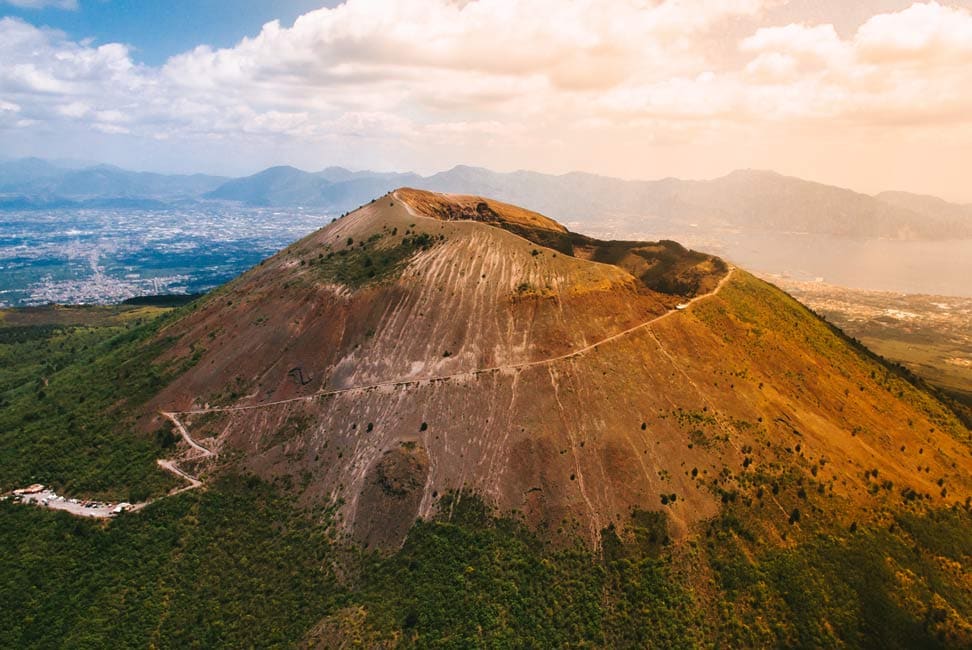
POLYGON ((126 311, 0 327, 0 489, 40 482, 139 501, 175 485, 155 465, 174 438, 138 433, 132 412, 193 359, 156 363, 166 317, 118 317, 126 311))

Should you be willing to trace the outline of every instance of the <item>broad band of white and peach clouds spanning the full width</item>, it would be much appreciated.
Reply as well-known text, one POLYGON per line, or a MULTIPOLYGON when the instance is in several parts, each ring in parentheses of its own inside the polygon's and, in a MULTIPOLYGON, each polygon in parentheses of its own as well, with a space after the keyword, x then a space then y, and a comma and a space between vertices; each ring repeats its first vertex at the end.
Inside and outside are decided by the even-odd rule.
POLYGON ((778 4, 347 0, 158 67, 136 64, 122 44, 5 18, 0 128, 295 146, 367 139, 408 155, 464 146, 512 157, 528 146, 560 155, 598 134, 626 148, 743 141, 767 124, 922 127, 972 115, 968 10, 918 2, 847 33, 764 24, 778 4), (739 25, 749 28, 725 57, 715 46, 739 25))

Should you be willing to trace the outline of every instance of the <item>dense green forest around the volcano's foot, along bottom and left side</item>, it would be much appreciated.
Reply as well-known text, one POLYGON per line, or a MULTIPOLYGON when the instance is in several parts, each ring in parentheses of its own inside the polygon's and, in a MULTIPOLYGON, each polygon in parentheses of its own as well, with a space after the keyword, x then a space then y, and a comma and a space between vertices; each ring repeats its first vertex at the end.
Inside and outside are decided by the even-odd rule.
MULTIPOLYGON (((181 367, 154 366, 146 343, 171 312, 140 309, 0 327, 4 491, 172 486, 153 459, 175 441, 127 419, 181 367)), ((671 541, 664 514, 634 512, 595 551, 453 494, 378 553, 342 539, 330 509, 298 507, 290 487, 230 462, 205 489, 110 522, 0 503, 0 647, 972 643, 967 508, 848 529, 804 529, 795 511, 790 543, 773 548, 727 500, 687 541, 671 541)))

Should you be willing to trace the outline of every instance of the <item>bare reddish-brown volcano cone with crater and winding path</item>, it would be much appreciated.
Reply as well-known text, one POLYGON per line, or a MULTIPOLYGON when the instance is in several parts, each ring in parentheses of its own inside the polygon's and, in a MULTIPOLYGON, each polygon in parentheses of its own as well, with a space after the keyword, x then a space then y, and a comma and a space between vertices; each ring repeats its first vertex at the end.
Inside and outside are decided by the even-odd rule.
POLYGON ((366 545, 461 489, 595 544, 633 510, 685 538, 758 501, 779 540, 796 509, 823 526, 972 494, 954 415, 779 290, 476 197, 378 199, 165 334, 199 362, 153 408, 300 479, 302 501, 338 500, 366 545))

